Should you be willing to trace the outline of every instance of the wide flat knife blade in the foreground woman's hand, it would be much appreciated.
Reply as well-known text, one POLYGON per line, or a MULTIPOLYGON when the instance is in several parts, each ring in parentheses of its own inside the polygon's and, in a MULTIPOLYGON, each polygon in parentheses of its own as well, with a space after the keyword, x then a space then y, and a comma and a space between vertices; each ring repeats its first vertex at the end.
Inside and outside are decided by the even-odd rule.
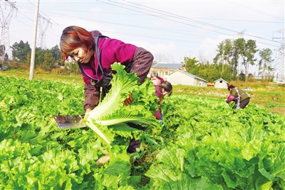
POLYGON ((56 121, 59 129, 76 129, 86 127, 86 124, 83 121, 83 115, 74 115, 74 116, 53 116, 53 119, 56 121))

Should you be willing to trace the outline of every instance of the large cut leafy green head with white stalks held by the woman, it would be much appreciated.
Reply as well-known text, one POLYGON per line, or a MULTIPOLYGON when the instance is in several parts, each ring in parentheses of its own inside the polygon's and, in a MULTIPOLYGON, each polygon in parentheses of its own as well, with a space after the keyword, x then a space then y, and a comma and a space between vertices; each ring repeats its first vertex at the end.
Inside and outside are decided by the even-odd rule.
POLYGON ((114 63, 112 69, 116 71, 113 74, 112 88, 103 101, 84 118, 86 125, 105 141, 109 150, 115 136, 138 139, 142 135, 142 130, 126 125, 129 122, 145 127, 161 127, 153 116, 158 109, 155 86, 149 80, 140 85, 136 73, 127 73, 125 66, 120 63, 114 63), (133 102, 130 106, 124 106, 123 102, 130 93, 133 102))

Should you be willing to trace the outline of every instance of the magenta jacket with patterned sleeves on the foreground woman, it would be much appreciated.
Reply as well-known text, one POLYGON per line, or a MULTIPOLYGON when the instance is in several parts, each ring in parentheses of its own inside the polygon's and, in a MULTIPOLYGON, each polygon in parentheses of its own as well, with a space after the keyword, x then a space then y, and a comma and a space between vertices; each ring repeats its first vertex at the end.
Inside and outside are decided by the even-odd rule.
MULTIPOLYGON (((150 51, 142 49, 133 44, 126 44, 118 39, 101 37, 98 43, 98 49, 101 52, 101 65, 105 72, 111 71, 111 64, 120 62, 126 67, 130 66, 130 73, 136 72, 140 78, 140 83, 145 81, 153 56, 150 51)), ((100 86, 90 84, 91 79, 100 80, 102 76, 98 74, 98 59, 94 52, 95 59, 91 59, 88 64, 81 64, 83 68, 83 81, 85 83, 85 101, 83 109, 94 109, 99 104, 100 86)), ((80 63, 79 63, 80 64, 80 63)))

